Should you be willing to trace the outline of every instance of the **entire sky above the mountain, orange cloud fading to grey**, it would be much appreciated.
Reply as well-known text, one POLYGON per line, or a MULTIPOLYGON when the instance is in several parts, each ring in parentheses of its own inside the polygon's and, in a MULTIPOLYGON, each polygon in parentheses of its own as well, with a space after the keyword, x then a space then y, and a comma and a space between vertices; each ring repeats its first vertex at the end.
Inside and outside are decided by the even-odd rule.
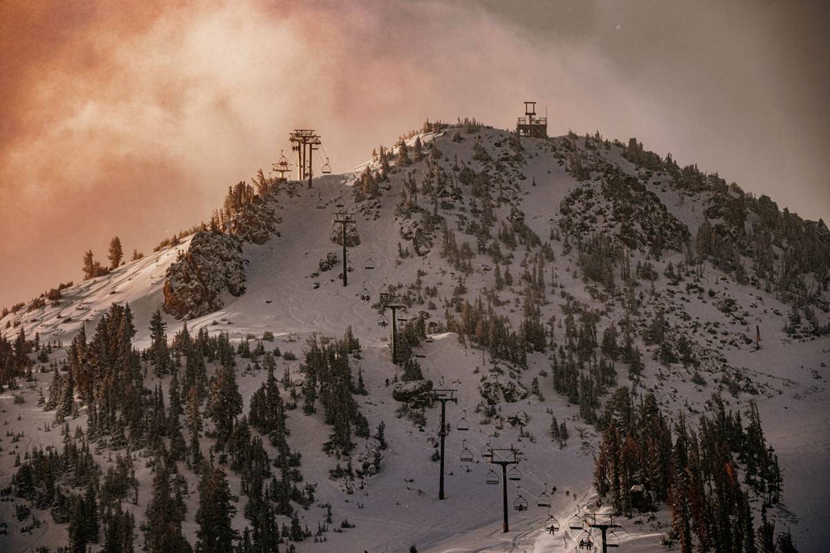
POLYGON ((334 172, 425 119, 637 137, 830 219, 828 2, 0 0, 0 306, 149 253, 316 129, 334 172))

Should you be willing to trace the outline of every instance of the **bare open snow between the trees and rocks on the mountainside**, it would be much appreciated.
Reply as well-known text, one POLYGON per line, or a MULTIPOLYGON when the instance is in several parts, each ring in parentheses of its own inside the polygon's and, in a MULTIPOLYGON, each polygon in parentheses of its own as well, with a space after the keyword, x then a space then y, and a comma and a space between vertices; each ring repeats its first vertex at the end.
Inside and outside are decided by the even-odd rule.
MULTIPOLYGON (((498 130, 481 132, 482 143, 486 148, 496 152, 495 143, 504 143, 509 133, 498 130)), ((427 138, 423 137, 426 141, 427 138)), ((461 143, 452 142, 450 133, 435 138, 446 160, 445 167, 452 166, 456 158, 480 171, 481 163, 472 160, 471 146, 473 138, 465 136, 461 143)), ((516 169, 508 169, 509 181, 519 185, 516 197, 520 209, 525 213, 527 224, 547 240, 551 221, 559 217, 559 204, 565 196, 577 186, 577 182, 565 172, 562 164, 545 153, 548 143, 542 140, 525 140, 525 164, 516 169), (515 172, 515 177, 510 172, 515 172), (521 173, 523 179, 518 179, 521 173), (531 186, 535 182, 535 187, 531 186)), ((614 163, 636 174, 630 163, 618 156, 618 148, 608 154, 614 163)), ((300 195, 280 196, 278 215, 282 217, 281 235, 275 236, 264 245, 246 245, 244 256, 247 260, 247 291, 239 298, 229 294, 225 298, 225 307, 216 313, 188 321, 191 332, 199 327, 207 327, 210 332, 228 332, 232 340, 240 340, 250 333, 261 337, 262 332, 270 331, 276 335, 276 342, 266 342, 269 349, 277 345, 281 350, 291 350, 301 358, 302 344, 312 332, 340 337, 346 327, 353 327, 364 347, 362 358, 353 366, 359 366, 364 374, 369 395, 358 396, 361 410, 369 419, 371 428, 383 420, 387 425, 389 449, 383 460, 383 469, 378 475, 369 478, 363 490, 354 494, 345 494, 339 483, 328 478, 330 468, 335 461, 323 453, 321 446, 327 439, 329 429, 323 423, 322 415, 306 416, 300 410, 290 411, 289 427, 292 449, 303 454, 302 472, 306 481, 316 482, 318 502, 330 502, 334 510, 334 524, 348 519, 356 524, 353 529, 342 533, 328 532, 325 543, 305 541, 298 544, 300 551, 408 551, 411 545, 418 551, 574 551, 574 538, 579 531, 570 531, 567 527, 569 518, 578 506, 590 502, 595 506, 595 495, 591 487, 593 472, 593 453, 598 441, 595 429, 579 420, 579 407, 569 405, 567 400, 556 394, 551 388, 549 376, 540 376, 540 371, 549 371, 549 361, 544 355, 533 354, 526 371, 519 371, 518 380, 530 388, 530 380, 540 377, 544 401, 530 395, 527 400, 500 404, 501 415, 505 417, 526 412, 530 421, 525 431, 534 439, 520 438, 519 429, 510 427, 496 429, 492 424, 481 424, 481 415, 476 414, 476 405, 481 400, 478 385, 482 374, 493 369, 493 361, 482 354, 481 350, 462 345, 452 333, 435 335, 432 342, 423 344, 418 354, 425 376, 435 382, 457 388, 459 401, 448 407, 448 418, 454 425, 465 414, 471 421, 469 432, 453 431, 447 438, 447 499, 437 500, 438 465, 430 460, 434 451, 435 431, 437 429, 438 410, 427 410, 428 421, 425 431, 418 431, 406 419, 398 419, 395 411, 397 401, 391 395, 391 386, 386 380, 391 378, 396 367, 390 362, 388 352, 388 329, 378 327, 378 312, 368 303, 359 301, 359 294, 367 289, 376 299, 383 284, 412 284, 416 269, 422 269, 424 286, 438 286, 440 292, 436 303, 437 309, 428 310, 431 320, 443 319, 443 298, 452 296, 452 288, 457 283, 455 271, 447 267, 438 255, 440 250, 440 233, 435 237, 432 251, 424 256, 413 255, 403 260, 398 259, 398 244, 409 245, 402 239, 400 229, 402 221, 393 216, 399 200, 399 188, 407 171, 420 180, 422 164, 415 164, 403 172, 394 174, 389 183, 391 190, 379 198, 379 207, 368 214, 356 216, 361 244, 349 250, 355 270, 349 274, 349 286, 344 288, 338 278, 339 267, 325 271, 317 276, 319 262, 330 252, 339 254, 339 246, 330 241, 332 229, 331 218, 334 200, 343 196, 346 206, 351 208, 351 185, 354 175, 342 177, 325 177, 315 181, 315 189, 305 191, 298 188, 300 195), (317 209, 320 196, 327 201, 325 210, 317 209), (378 213, 379 216, 374 216, 378 213), (374 260, 376 269, 364 269, 364 261, 374 260), (316 285, 319 284, 319 287, 316 285), (549 439, 548 427, 552 412, 558 420, 567 420, 571 438, 568 446, 559 449, 549 439), (580 435, 581 434, 581 435, 580 435), (462 442, 462 440, 466 440, 462 442), (520 482, 510 482, 509 501, 517 494, 527 498, 531 507, 527 512, 510 511, 511 531, 501 532, 501 497, 500 486, 488 486, 484 478, 489 468, 479 453, 487 443, 494 447, 515 445, 523 454, 525 461, 520 463, 523 477, 520 482), (475 454, 473 463, 461 463, 458 458, 462 444, 475 454), (517 488, 518 484, 520 488, 517 488), (548 510, 535 507, 535 497, 544 491, 545 486, 557 488, 553 494, 550 512, 558 518, 562 530, 554 536, 544 531, 544 522, 548 510)), ((701 203, 704 200, 686 198, 677 201, 675 191, 663 192, 661 185, 650 184, 661 197, 667 210, 678 220, 689 226, 694 232, 702 218, 701 203)), ((426 206, 426 199, 422 199, 426 206)), ((500 219, 509 214, 506 207, 500 209, 500 219)), ((454 217, 449 217, 450 226, 454 217)), ((474 238, 457 230, 457 238, 471 241, 474 238)), ((459 243, 460 243, 459 242, 459 243)), ((577 300, 593 304, 586 284, 581 278, 574 278, 577 268, 576 253, 565 255, 559 242, 552 242, 556 259, 546 267, 546 278, 555 272, 564 290, 573 294, 577 300)), ((41 342, 60 339, 65 345, 77 332, 81 322, 87 325, 91 333, 95 322, 113 302, 129 302, 135 315, 138 336, 137 347, 149 344, 149 314, 163 301, 164 271, 177 255, 178 250, 186 250, 188 240, 175 247, 159 251, 143 260, 126 264, 112 273, 92 279, 66 289, 64 300, 56 307, 33 310, 30 313, 18 312, 0 320, 0 328, 7 321, 17 318, 25 328, 27 336, 38 332, 41 342)), ((475 249, 475 245, 474 245, 475 249)), ((510 265, 515 279, 519 279, 519 262, 524 246, 514 253, 514 263, 510 265)), ((639 254, 637 254, 639 255, 639 254)), ((644 259, 638 257, 637 259, 644 259)), ((655 262, 658 272, 669 260, 682 260, 681 254, 664 256, 655 262)), ((476 256, 476 271, 466 278, 468 297, 476 298, 481 289, 492 286, 493 274, 485 270, 490 264, 489 258, 476 256)), ((581 272, 581 271, 580 271, 581 272)), ((741 394, 733 398, 725 392, 725 400, 730 409, 743 410, 749 399, 757 400, 759 412, 764 423, 764 431, 769 443, 779 454, 784 469, 783 506, 774 509, 772 516, 778 521, 778 527, 789 526, 797 541, 800 551, 818 551, 823 544, 830 541, 830 530, 823 523, 823 508, 828 502, 828 485, 825 475, 830 469, 830 395, 826 385, 827 370, 823 362, 830 361, 830 339, 827 337, 808 342, 791 342, 782 328, 785 313, 789 307, 780 303, 773 295, 748 286, 738 286, 731 280, 721 279, 723 274, 709 266, 701 282, 704 289, 713 289, 718 298, 735 298, 741 309, 745 310, 745 324, 736 323, 726 317, 725 313, 715 308, 715 301, 701 301, 694 293, 683 293, 681 289, 672 289, 666 279, 655 283, 655 294, 647 295, 643 310, 651 312, 652 305, 678 306, 693 321, 719 323, 717 338, 702 331, 690 333, 689 337, 701 347, 719 348, 730 366, 748 375, 761 393, 757 396, 741 394), (686 298, 681 298, 686 296, 686 298), (751 307, 754 306, 754 307, 751 307), (777 313, 777 314, 776 314, 777 313), (764 336, 763 349, 754 351, 753 346, 737 342, 737 347, 730 346, 728 339, 742 334, 754 336, 754 325, 762 327, 764 336), (720 339, 723 342, 720 342, 720 339), (818 377, 817 377, 818 376, 818 377)), ((505 291, 502 299, 518 298, 516 293, 505 291)), ((648 294, 648 290, 646 290, 648 294)), ((561 318, 560 306, 564 299, 558 293, 550 294, 550 303, 545 307, 543 320, 555 314, 561 318)), ((706 298, 709 299, 709 298, 706 298)), ((599 304, 598 304, 599 305, 599 304)), ((515 308, 510 304, 504 310, 510 312, 515 326, 521 317, 520 303, 515 308)), ((601 306, 601 305, 600 305, 601 306)), ((417 309, 425 309, 419 306, 417 309)), ((610 315, 620 315, 619 308, 611 308, 610 315)), ((674 314, 669 315, 672 324, 681 320, 674 314)), ((168 318, 168 335, 178 331, 181 322, 168 318)), ((602 325, 601 325, 602 327, 602 325)), ((17 332, 15 330, 14 332, 17 332)), ((560 334, 564 331, 558 329, 560 334)), ((691 332, 683 330, 683 332, 691 332)), ((686 410, 687 415, 706 409, 704 402, 715 390, 715 383, 710 374, 706 374, 706 386, 696 386, 690 380, 691 374, 682 367, 661 368, 657 361, 644 350, 646 361, 645 386, 655 391, 662 406, 673 413, 686 410), (661 375, 665 375, 661 376, 661 375)), ((245 361, 245 360, 237 360, 245 361)), ((298 375, 300 361, 282 361, 291 372, 298 375)), ((242 362, 244 365, 244 362, 242 362)), ((501 364, 504 365, 503 363, 501 364)), ((242 370, 243 366, 237 368, 242 370)), ((278 374, 282 367, 278 366, 278 374)), ((717 373, 713 373, 717 376, 717 373)), ((37 381, 22 390, 26 402, 17 405, 12 402, 11 393, 0 395, 3 425, 7 432, 25 433, 17 443, 11 443, 8 436, 2 439, 0 454, 0 486, 6 486, 12 476, 14 454, 31 450, 33 447, 54 444, 60 446, 60 429, 44 432, 44 424, 53 420, 52 413, 43 412, 37 407, 37 387, 44 390, 48 386, 51 374, 37 374, 37 381)), ((260 385, 264 375, 240 374, 240 390, 247 401, 260 385)), ((629 385, 624 371, 618 376, 620 384, 629 385)), ((148 376, 146 386, 152 388, 154 379, 148 376)), ((166 386, 165 386, 166 390, 166 386)), ((642 388, 640 389, 642 393, 642 388)), ((245 409, 247 412, 247 407, 245 409)), ((690 415, 690 420, 696 415, 690 415)), ((85 424, 85 413, 70 420, 71 427, 85 424)), ((99 463, 107 463, 109 452, 100 451, 99 463)), ((139 459, 138 478, 142 484, 139 505, 134 509, 137 521, 144 516, 144 509, 149 499, 149 480, 151 474, 139 459)), ((198 503, 197 481, 192 473, 183 469, 188 475, 191 497, 188 499, 188 521, 185 531, 193 541, 196 525, 193 513, 198 503)), ((229 473, 232 487, 238 491, 238 478, 229 473)), ((245 498, 242 497, 237 507, 242 511, 245 498)), ((596 507, 594 507, 596 508, 596 507)), ((604 507, 603 507, 604 508, 604 507)), ((301 512, 307 526, 314 530, 318 521, 325 517, 320 507, 312 507, 301 512)), ((38 515, 45 523, 31 534, 20 534, 19 526, 28 521, 17 523, 12 503, 0 503, 0 520, 8 521, 9 536, 0 536, 2 551, 34 551, 34 546, 55 547, 66 542, 66 526, 54 525, 46 512, 38 515)), ((658 513, 657 521, 647 521, 646 516, 632 519, 619 519, 623 529, 618 531, 622 542, 620 551, 662 551, 660 536, 666 531, 666 509, 658 513)), ((238 528, 245 526, 242 514, 237 514, 238 528)), ((140 536, 140 532, 139 532, 140 536)))

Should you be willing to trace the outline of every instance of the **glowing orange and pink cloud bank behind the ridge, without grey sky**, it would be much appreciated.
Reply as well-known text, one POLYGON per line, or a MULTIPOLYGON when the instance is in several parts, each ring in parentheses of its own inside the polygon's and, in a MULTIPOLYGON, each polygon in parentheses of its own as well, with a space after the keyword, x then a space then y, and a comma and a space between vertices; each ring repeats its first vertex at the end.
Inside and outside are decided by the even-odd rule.
POLYGON ((335 171, 427 118, 510 126, 524 99, 561 133, 675 145, 673 106, 598 46, 477 2, 0 10, 0 304, 77 279, 83 250, 103 257, 113 235, 146 251, 203 220, 295 127, 320 132, 335 171))

